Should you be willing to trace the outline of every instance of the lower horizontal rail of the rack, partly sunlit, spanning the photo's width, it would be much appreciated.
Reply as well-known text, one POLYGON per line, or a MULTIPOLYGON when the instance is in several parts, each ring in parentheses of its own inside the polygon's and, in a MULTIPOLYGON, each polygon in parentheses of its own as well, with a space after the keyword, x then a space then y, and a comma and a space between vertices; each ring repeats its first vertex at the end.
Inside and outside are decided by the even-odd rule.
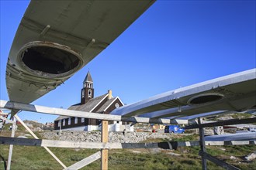
MULTIPOLYGON (((160 143, 101 143, 101 142, 74 142, 55 141, 32 138, 0 137, 0 145, 24 145, 54 148, 95 148, 95 149, 122 149, 122 148, 164 148, 177 149, 178 147, 199 146, 199 141, 165 141, 160 143)), ((206 141, 206 146, 221 145, 256 145, 256 141, 206 141)))

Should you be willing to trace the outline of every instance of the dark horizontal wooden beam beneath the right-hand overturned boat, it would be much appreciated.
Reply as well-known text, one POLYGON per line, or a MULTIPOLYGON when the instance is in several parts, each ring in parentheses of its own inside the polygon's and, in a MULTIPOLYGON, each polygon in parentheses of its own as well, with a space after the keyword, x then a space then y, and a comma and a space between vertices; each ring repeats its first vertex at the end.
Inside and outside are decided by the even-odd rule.
POLYGON ((192 124, 192 125, 186 126, 185 129, 209 128, 209 127, 231 125, 231 124, 250 124, 255 122, 256 122, 256 117, 247 118, 247 119, 231 119, 228 121, 217 121, 217 122, 208 123, 208 124, 192 124))

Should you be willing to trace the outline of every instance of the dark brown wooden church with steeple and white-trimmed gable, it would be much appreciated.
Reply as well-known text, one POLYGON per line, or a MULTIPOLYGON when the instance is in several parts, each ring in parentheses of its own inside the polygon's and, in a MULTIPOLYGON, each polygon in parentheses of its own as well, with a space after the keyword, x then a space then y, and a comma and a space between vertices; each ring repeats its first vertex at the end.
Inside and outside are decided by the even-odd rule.
MULTIPOLYGON (((93 80, 88 71, 81 89, 81 102, 74 104, 68 110, 79 110, 98 114, 109 114, 112 110, 122 107, 119 97, 112 97, 112 91, 94 97, 93 80)), ((99 131, 101 120, 60 116, 54 121, 54 130, 99 131)), ((123 131, 125 125, 121 121, 109 121, 109 131, 123 131)), ((133 126, 126 126, 126 131, 133 131, 133 126)))

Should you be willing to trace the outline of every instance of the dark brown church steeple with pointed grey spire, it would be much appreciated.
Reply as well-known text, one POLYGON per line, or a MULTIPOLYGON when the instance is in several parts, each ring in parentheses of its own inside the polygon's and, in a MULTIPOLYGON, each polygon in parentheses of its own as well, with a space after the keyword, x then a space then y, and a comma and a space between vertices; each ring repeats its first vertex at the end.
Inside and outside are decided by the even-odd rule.
POLYGON ((85 76, 83 88, 81 89, 81 104, 85 104, 94 97, 93 80, 90 71, 85 76))

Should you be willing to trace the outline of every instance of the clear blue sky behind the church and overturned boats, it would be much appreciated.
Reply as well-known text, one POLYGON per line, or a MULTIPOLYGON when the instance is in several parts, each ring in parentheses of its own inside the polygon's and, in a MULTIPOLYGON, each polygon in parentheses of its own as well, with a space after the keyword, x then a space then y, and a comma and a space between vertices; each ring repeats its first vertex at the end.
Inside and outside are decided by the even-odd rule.
MULTIPOLYGON (((1 100, 9 100, 5 67, 29 1, 1 0, 1 100)), ((256 67, 255 1, 157 1, 121 36, 61 87, 33 104, 67 108, 80 102, 90 70, 95 97, 111 89, 124 104, 256 67)), ((19 113, 22 120, 57 116, 19 113)))

